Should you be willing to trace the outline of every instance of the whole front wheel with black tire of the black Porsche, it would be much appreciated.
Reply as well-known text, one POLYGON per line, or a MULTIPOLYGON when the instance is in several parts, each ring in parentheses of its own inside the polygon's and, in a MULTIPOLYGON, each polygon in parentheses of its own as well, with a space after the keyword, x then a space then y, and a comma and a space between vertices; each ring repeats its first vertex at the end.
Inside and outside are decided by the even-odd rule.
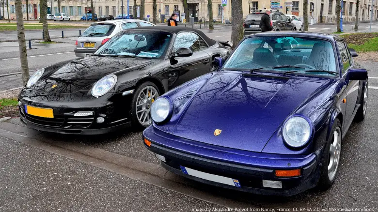
POLYGON ((154 102, 154 100, 157 99, 157 97, 159 97, 159 96, 160 96, 160 92, 159 92, 157 86, 153 82, 149 82, 149 81, 143 82, 141 85, 138 86, 137 89, 135 89, 135 92, 134 92, 132 100, 131 100, 131 106, 130 106, 131 125, 134 128, 142 129, 142 128, 145 128, 145 127, 147 127, 151 124, 151 115, 150 115, 151 105, 154 102), (148 90, 146 90, 146 89, 148 89, 148 90), (155 89, 155 91, 152 91, 152 89, 155 89), (139 104, 139 105, 143 104, 143 102, 141 101, 142 97, 143 96, 146 97, 145 94, 144 95, 142 94, 142 91, 143 91, 143 93, 144 92, 147 93, 146 91, 148 91, 147 98, 144 98, 145 100, 147 100, 147 102, 145 102, 144 105, 142 105, 142 106, 137 106, 137 104, 139 104), (154 92, 156 92, 156 93, 154 93, 154 92), (150 97, 152 97, 152 95, 154 95, 154 97, 150 99, 150 97), (138 114, 137 114, 137 110, 139 110, 138 114), (145 116, 147 116, 147 118, 145 116), (140 121, 140 119, 142 121, 140 121), (145 119, 148 119, 149 123, 147 123, 145 121, 145 119))

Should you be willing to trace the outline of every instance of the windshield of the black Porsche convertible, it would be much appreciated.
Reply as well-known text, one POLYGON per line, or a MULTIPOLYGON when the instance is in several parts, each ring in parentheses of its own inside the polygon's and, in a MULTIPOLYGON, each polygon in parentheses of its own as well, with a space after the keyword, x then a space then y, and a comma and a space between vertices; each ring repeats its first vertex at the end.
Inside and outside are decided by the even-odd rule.
POLYGON ((127 30, 112 37, 94 54, 160 59, 165 56, 171 38, 172 34, 164 31, 127 30))

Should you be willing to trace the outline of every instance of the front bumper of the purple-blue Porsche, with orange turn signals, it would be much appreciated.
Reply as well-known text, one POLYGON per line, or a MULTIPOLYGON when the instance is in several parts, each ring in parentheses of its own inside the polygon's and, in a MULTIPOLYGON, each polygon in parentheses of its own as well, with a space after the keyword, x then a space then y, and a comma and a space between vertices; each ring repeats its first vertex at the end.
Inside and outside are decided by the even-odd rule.
POLYGON ((143 131, 145 147, 165 157, 161 166, 189 179, 254 194, 292 196, 313 188, 319 181, 319 155, 322 148, 310 155, 282 155, 241 151, 188 140, 157 130, 153 126, 143 131), (205 180, 184 173, 182 167, 237 179, 240 187, 205 180), (275 170, 301 169, 298 177, 276 177, 275 170), (263 186, 263 180, 280 181, 282 188, 263 186))

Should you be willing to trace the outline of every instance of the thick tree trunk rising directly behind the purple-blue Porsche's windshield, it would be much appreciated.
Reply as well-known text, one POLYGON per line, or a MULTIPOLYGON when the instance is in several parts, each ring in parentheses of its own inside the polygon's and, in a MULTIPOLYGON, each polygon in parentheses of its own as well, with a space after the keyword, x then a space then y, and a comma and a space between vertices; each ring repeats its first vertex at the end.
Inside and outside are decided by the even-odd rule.
POLYGON ((243 11, 242 7, 242 0, 231 0, 231 16, 232 16, 232 23, 231 23, 231 42, 233 44, 233 48, 243 39, 244 37, 244 29, 243 29, 243 11))

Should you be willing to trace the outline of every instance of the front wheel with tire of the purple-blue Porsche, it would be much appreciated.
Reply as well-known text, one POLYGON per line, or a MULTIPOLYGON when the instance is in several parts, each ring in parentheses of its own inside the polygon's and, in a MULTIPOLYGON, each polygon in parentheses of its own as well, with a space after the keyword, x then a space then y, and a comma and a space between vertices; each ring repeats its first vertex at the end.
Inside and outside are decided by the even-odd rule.
POLYGON ((320 170, 319 183, 317 185, 317 188, 319 190, 322 190, 322 191, 327 190, 332 186, 333 182, 335 182, 335 179, 337 177, 337 170, 340 165, 341 144, 342 144, 341 123, 338 119, 336 119, 333 122, 330 137, 326 143, 325 149, 320 159, 320 163, 322 164, 322 166, 320 170), (337 140, 335 139, 335 137, 337 137, 337 140), (333 152, 331 151, 331 145, 332 145, 333 152), (332 158, 333 158, 333 161, 331 161, 332 158), (331 174, 330 174, 329 166, 331 162, 332 162, 332 165, 331 165, 331 174))

